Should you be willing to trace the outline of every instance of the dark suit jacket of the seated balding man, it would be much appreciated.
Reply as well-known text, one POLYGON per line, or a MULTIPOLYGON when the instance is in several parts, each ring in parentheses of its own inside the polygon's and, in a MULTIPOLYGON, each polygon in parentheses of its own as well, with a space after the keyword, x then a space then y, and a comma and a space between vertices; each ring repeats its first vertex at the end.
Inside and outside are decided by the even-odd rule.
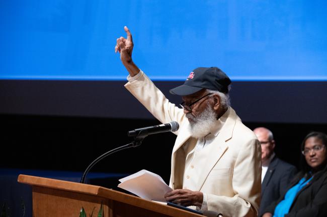
POLYGON ((284 195, 296 171, 295 166, 282 161, 278 157, 275 156, 272 159, 261 185, 259 216, 272 202, 284 195))

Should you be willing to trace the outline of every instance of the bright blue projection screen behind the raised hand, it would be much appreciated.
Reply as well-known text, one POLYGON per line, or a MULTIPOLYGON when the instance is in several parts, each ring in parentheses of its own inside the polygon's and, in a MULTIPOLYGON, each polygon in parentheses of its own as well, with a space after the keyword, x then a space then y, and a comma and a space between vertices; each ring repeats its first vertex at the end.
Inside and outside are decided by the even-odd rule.
POLYGON ((327 2, 0 2, 0 79, 125 80, 116 38, 154 80, 217 66, 238 81, 326 81, 327 2))

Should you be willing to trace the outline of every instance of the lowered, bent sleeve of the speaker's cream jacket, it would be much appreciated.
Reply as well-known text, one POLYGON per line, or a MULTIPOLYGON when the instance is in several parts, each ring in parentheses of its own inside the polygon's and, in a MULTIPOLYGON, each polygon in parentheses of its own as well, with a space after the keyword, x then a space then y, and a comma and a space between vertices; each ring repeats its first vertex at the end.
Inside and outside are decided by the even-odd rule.
POLYGON ((234 196, 207 194, 208 209, 219 210, 224 216, 257 216, 261 192, 260 143, 253 138, 239 147, 232 187, 234 196))

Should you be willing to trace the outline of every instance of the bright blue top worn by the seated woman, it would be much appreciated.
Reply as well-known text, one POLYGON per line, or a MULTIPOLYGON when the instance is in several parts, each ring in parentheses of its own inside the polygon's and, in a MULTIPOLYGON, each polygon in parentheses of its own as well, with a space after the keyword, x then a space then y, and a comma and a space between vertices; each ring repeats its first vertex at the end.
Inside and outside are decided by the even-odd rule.
POLYGON ((284 215, 288 213, 297 192, 299 192, 312 179, 312 177, 306 181, 305 178, 302 178, 296 185, 286 192, 284 199, 277 204, 273 217, 284 217, 284 215))

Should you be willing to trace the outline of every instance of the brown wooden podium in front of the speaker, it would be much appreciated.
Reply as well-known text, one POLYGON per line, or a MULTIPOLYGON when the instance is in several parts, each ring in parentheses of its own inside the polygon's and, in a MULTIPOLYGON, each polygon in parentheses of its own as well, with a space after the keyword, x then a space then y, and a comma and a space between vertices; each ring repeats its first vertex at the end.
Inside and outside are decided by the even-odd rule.
POLYGON ((95 217, 101 203, 104 217, 203 216, 96 185, 22 174, 18 182, 32 185, 34 217, 78 217, 82 206, 95 217))

